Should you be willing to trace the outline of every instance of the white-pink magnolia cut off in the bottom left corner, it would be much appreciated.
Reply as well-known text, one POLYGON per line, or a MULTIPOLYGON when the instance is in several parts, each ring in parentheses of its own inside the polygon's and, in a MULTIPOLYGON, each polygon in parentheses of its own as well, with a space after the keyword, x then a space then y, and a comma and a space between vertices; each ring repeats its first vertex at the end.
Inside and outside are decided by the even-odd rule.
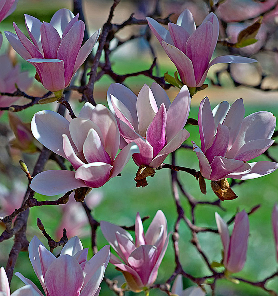
POLYGON ((40 296, 40 294, 35 289, 33 289, 32 285, 21 287, 17 289, 15 292, 13 292, 11 295, 9 281, 3 266, 0 268, 0 295, 1 296, 40 296))

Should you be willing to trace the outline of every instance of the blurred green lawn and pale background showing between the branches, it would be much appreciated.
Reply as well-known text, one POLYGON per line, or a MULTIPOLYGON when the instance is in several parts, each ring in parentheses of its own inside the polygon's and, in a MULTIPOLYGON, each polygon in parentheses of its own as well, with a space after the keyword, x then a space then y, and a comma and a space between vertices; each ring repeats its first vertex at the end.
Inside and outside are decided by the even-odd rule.
MULTIPOLYGON (((41 21, 49 22, 52 15, 58 9, 65 7, 72 10, 72 2, 73 1, 68 0, 20 0, 15 12, 1 22, 0 30, 1 32, 4 30, 14 32, 12 27, 12 22, 14 21, 23 33, 27 33, 24 24, 24 13, 37 17, 41 21)), ((226 27, 222 27, 220 38, 228 38, 229 42, 235 42, 238 33, 243 28, 255 22, 257 20, 256 17, 260 14, 264 15, 262 25, 256 36, 258 41, 242 49, 230 49, 232 54, 253 57, 258 59, 259 62, 247 65, 234 65, 228 68, 230 73, 226 71, 227 65, 220 64, 213 66, 205 81, 205 83, 209 84, 209 87, 199 91, 191 100, 192 107, 189 117, 197 119, 199 102, 205 96, 209 97, 212 107, 223 100, 227 100, 232 104, 236 99, 243 98, 245 103, 245 116, 261 110, 271 111, 274 115, 278 114, 278 92, 276 90, 278 88, 277 2, 277 0, 226 0, 223 4, 219 5, 215 13, 224 21, 222 25, 227 24, 226 27), (225 30, 223 28, 225 28, 225 30), (226 33, 228 33, 228 35, 226 35, 226 33), (236 87, 235 85, 238 86, 236 87)), ((202 0, 162 0, 159 3, 160 17, 164 18, 172 13, 171 19, 173 22, 176 21, 178 15, 185 8, 188 8, 194 15, 196 25, 199 25, 209 11, 208 4, 202 0)), ((89 36, 98 28, 101 28, 103 23, 106 22, 111 4, 111 0, 83 1, 89 36)), ((127 20, 133 12, 136 18, 143 19, 146 15, 153 12, 155 6, 156 1, 154 0, 122 0, 115 9, 113 22, 121 23, 127 20)), ((151 34, 146 25, 127 26, 119 31, 117 38, 122 41, 130 38, 132 35, 144 34, 145 32, 147 35, 151 34)), ((168 71, 170 75, 174 74, 176 71, 175 66, 164 53, 156 38, 153 35, 150 36, 150 43, 144 37, 135 38, 119 46, 112 52, 111 61, 115 73, 126 74, 146 70, 151 66, 155 56, 157 57, 158 65, 158 67, 155 68, 157 76, 163 76, 166 71, 168 71), (154 53, 152 53, 152 49, 154 53)), ((116 46, 118 40, 115 38, 111 46, 116 46)), ((97 45, 95 46, 95 49, 96 48, 97 45)), ((30 77, 35 75, 33 66, 13 52, 4 37, 0 54, 4 54, 5 52, 9 52, 9 56, 12 58, 13 62, 20 63, 22 70, 28 71, 26 75, 30 77)), ((219 44, 215 51, 215 56, 222 54, 229 54, 229 51, 226 46, 219 44)), ((76 85, 78 85, 78 81, 79 77, 76 77, 76 85)), ((152 82, 150 78, 139 75, 128 78, 125 81, 125 85, 130 87, 130 89, 137 94, 144 83, 150 86, 152 82)), ((95 84, 95 101, 97 103, 107 105, 106 92, 110 83, 113 83, 112 79, 104 75, 100 81, 95 84)), ((44 93, 46 93, 45 89, 34 79, 31 88, 28 90, 28 94, 41 96, 44 93)), ((175 98, 177 93, 178 89, 173 87, 167 90, 171 101, 175 98)), ((80 98, 81 96, 78 92, 73 91, 71 93, 70 103, 77 114, 83 105, 83 103, 79 102, 80 98)), ((19 99, 17 101, 18 104, 24 104, 26 102, 28 102, 27 99, 19 99)), ((35 112, 44 109, 56 110, 57 104, 52 103, 43 106, 34 105, 27 110, 18 112, 16 115, 23 122, 28 123, 31 121, 35 112)), ((12 212, 6 205, 7 200, 9 205, 12 204, 12 209, 20 207, 27 187, 25 174, 20 170, 18 165, 19 159, 24 159, 29 169, 32 170, 39 152, 33 152, 32 154, 25 153, 16 147, 10 147, 9 141, 14 138, 14 135, 8 126, 7 112, 0 118, 0 131, 0 206, 2 207, 2 209, 0 209, 0 215, 6 215, 12 212), (4 205, 6 205, 6 207, 4 205), (7 212, 4 212, 4 210, 7 210, 7 212), (8 211, 10 211, 10 213, 8 211)), ((199 144, 198 127, 188 126, 188 131, 190 132, 190 138, 186 141, 187 144, 191 144, 191 140, 199 144)), ((278 158, 277 147, 271 147, 269 153, 274 158, 278 158)), ((268 159, 266 156, 262 155, 258 157, 258 159, 255 159, 255 161, 256 160, 268 159)), ((165 162, 169 163, 170 158, 167 158, 165 162)), ((188 149, 179 149, 177 151, 176 163, 177 165, 194 168, 196 170, 199 168, 196 154, 188 149)), ((45 170, 53 168, 58 169, 58 166, 54 161, 49 160, 45 170)), ((93 209, 92 213, 95 219, 98 221, 106 220, 119 225, 131 226, 134 224, 135 215, 139 211, 141 217, 146 215, 150 216, 150 219, 144 222, 144 228, 147 229, 156 211, 160 209, 166 215, 169 231, 172 231, 177 213, 170 188, 170 170, 157 171, 155 177, 148 180, 149 185, 145 188, 136 188, 135 182, 133 181, 136 171, 137 166, 130 160, 122 171, 122 177, 111 179, 98 190, 93 189, 90 199, 86 197, 88 206, 93 209)), ((277 174, 277 172, 274 172, 271 175, 249 180, 241 185, 235 185, 233 189, 239 197, 232 201, 223 202, 223 207, 226 208, 226 211, 222 211, 218 207, 207 205, 198 205, 196 209, 197 225, 216 228, 214 219, 215 211, 218 211, 224 220, 227 221, 237 210, 245 209, 249 211, 253 206, 261 204, 261 208, 249 217, 250 238, 247 262, 243 270, 238 274, 239 277, 251 281, 260 281, 277 270, 271 228, 271 210, 278 201, 277 174)), ((205 196, 200 192, 198 182, 193 176, 180 172, 180 179, 186 190, 196 199, 213 201, 217 198, 210 189, 209 182, 207 182, 207 194, 205 196)), ((38 194, 36 198, 38 198, 38 200, 49 199, 49 197, 40 196, 38 194)), ((53 199, 56 198, 57 197, 53 197, 53 199)), ((187 200, 181 196, 181 202, 186 209, 186 214, 190 217, 187 200)), ((44 206, 43 209, 34 207, 31 209, 27 238, 31 240, 33 235, 37 235, 39 239, 47 245, 46 239, 41 235, 41 232, 36 226, 37 217, 41 219, 45 229, 54 239, 60 239, 62 236, 61 229, 63 227, 67 228, 68 237, 78 235, 82 240, 83 246, 89 247, 89 254, 92 255, 92 250, 90 249, 90 227, 86 223, 83 207, 77 205, 73 197, 71 197, 71 203, 69 205, 56 207, 44 206)), ((0 223, 0 231, 2 230, 4 230, 4 228, 0 223)), ((222 250, 220 237, 212 233, 200 233, 198 237, 210 261, 220 261, 222 250)), ((205 267, 202 258, 199 253, 196 252, 190 240, 190 231, 184 223, 181 223, 179 242, 180 260, 184 270, 193 276, 209 274, 209 270, 205 267)), ((100 229, 97 231, 97 242, 98 248, 107 244, 100 229)), ((12 247, 12 243, 12 239, 9 239, 0 244, 0 266, 6 266, 7 256, 12 247)), ((55 249, 55 252, 58 251, 59 250, 55 249)), ((156 283, 165 282, 174 271, 174 268, 174 252, 172 242, 170 241, 161 267, 159 268, 156 283)), ((25 277, 31 279, 40 287, 39 281, 28 259, 27 252, 20 253, 15 271, 21 272, 25 277)), ((114 266, 110 264, 106 269, 106 276, 110 279, 118 279, 121 284, 124 282, 123 277, 114 269, 114 266)), ((192 283, 189 280, 184 279, 184 287, 191 285, 192 283)), ((22 286, 22 282, 14 276, 12 279, 12 291, 20 286, 22 286)), ((113 295, 113 292, 106 287, 105 283, 103 283, 101 287, 100 295, 113 295)), ((278 278, 269 281, 268 288, 277 290, 278 278)), ((222 296, 268 295, 268 293, 261 289, 243 283, 236 285, 224 279, 217 281, 216 292, 216 295, 222 296)), ((128 292, 126 295, 133 295, 133 293, 128 292)), ((141 295, 143 295, 143 292, 141 292, 141 295)), ((163 295, 163 292, 151 290, 150 295, 163 295)))

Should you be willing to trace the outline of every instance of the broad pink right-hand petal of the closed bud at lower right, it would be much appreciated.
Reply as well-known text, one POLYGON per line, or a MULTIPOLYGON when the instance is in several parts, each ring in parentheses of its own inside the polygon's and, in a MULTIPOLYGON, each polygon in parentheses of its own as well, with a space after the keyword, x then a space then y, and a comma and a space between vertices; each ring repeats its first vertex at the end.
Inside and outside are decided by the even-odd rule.
POLYGON ((242 270, 247 253, 249 236, 249 220, 245 210, 237 213, 234 220, 234 229, 231 235, 229 251, 227 255, 226 268, 232 272, 242 270))

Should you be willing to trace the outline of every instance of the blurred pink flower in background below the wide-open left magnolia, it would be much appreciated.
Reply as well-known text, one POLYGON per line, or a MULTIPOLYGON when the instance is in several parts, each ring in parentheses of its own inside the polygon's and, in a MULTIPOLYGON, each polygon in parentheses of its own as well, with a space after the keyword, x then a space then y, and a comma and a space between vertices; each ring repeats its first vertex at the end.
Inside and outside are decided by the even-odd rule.
MULTIPOLYGON (((90 210, 99 205, 103 198, 103 192, 100 190, 92 190, 86 194, 86 204, 90 210)), ((65 205, 60 205, 62 209, 62 218, 60 225, 56 229, 56 237, 60 239, 63 236, 63 229, 67 230, 68 237, 85 237, 90 232, 84 229, 88 225, 88 218, 80 202, 74 200, 74 193, 69 196, 69 200, 65 205)))

